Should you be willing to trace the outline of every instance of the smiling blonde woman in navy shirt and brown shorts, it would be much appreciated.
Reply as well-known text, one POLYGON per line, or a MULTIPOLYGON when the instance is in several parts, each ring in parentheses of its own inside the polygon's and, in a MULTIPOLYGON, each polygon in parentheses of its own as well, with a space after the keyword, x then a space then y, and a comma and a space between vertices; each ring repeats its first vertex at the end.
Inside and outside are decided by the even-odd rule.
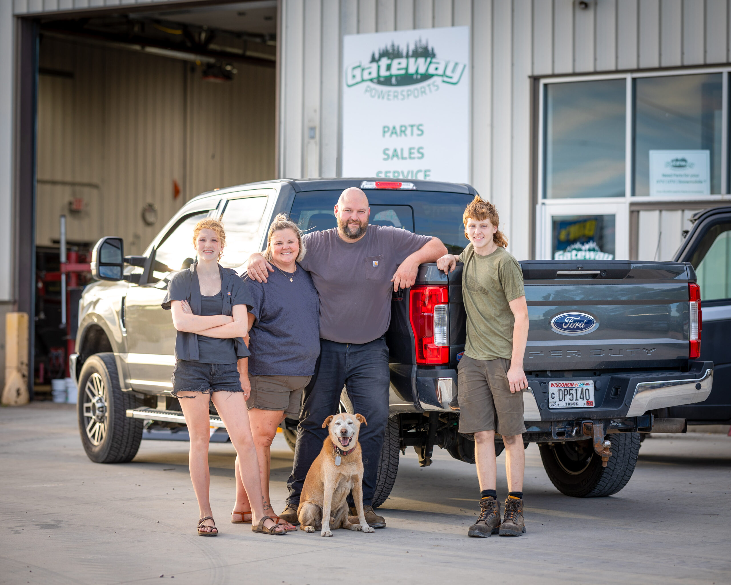
MULTIPOLYGON (((276 521, 269 497, 270 445, 284 418, 300 418, 302 390, 315 371, 319 356, 319 301, 308 272, 298 265, 305 255, 302 233, 295 222, 279 214, 269 227, 264 257, 274 272, 267 284, 246 276, 250 295, 249 351, 238 361, 243 388, 250 386, 251 431, 261 467, 264 510, 276 521), (253 326, 252 326, 253 325, 253 326)), ((251 522, 251 499, 236 475, 236 503, 231 521, 251 522)), ((284 528, 296 530, 289 519, 284 528)))

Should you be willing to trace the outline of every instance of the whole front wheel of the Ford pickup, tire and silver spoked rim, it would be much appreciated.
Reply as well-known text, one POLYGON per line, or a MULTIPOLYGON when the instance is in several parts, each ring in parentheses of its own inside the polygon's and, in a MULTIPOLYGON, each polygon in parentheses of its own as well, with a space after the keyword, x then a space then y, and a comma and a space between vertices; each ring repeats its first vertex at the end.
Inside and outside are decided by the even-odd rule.
POLYGON ((143 421, 127 418, 140 401, 122 392, 113 353, 97 353, 84 363, 79 376, 77 414, 81 444, 94 463, 126 463, 137 455, 143 421))

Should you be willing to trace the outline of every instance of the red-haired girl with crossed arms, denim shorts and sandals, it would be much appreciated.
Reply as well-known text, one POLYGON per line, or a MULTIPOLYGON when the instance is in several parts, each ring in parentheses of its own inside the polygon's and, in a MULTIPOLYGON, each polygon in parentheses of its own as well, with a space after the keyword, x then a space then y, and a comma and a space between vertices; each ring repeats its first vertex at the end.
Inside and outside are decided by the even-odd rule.
POLYGON ((235 271, 219 265, 226 234, 216 219, 202 219, 193 230, 198 260, 189 270, 173 275, 163 309, 173 312, 175 370, 173 396, 178 398, 190 434, 189 468, 198 500, 200 536, 218 536, 213 521, 208 470, 209 402, 226 425, 236 450, 236 477, 251 494, 254 532, 284 535, 262 507, 259 461, 246 415, 245 390, 236 369, 249 350, 243 343, 248 330, 249 295, 235 271))

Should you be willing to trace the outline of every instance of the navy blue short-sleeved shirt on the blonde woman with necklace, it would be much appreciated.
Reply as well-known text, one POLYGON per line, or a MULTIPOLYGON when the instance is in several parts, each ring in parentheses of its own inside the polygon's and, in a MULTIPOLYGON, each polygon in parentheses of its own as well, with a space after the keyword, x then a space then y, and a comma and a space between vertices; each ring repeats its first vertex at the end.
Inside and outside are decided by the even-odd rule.
POLYGON ((311 376, 319 355, 319 306, 312 279, 301 267, 284 276, 275 266, 267 281, 243 277, 256 317, 249 331, 249 374, 311 376))

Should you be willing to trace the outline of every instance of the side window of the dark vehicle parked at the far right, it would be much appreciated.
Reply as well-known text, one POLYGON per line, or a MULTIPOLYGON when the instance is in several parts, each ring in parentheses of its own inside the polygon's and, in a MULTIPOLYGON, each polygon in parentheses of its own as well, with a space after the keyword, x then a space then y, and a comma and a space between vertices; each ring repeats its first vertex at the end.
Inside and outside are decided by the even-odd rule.
POLYGON ((731 298, 731 223, 716 224, 705 233, 692 265, 702 301, 731 298))

